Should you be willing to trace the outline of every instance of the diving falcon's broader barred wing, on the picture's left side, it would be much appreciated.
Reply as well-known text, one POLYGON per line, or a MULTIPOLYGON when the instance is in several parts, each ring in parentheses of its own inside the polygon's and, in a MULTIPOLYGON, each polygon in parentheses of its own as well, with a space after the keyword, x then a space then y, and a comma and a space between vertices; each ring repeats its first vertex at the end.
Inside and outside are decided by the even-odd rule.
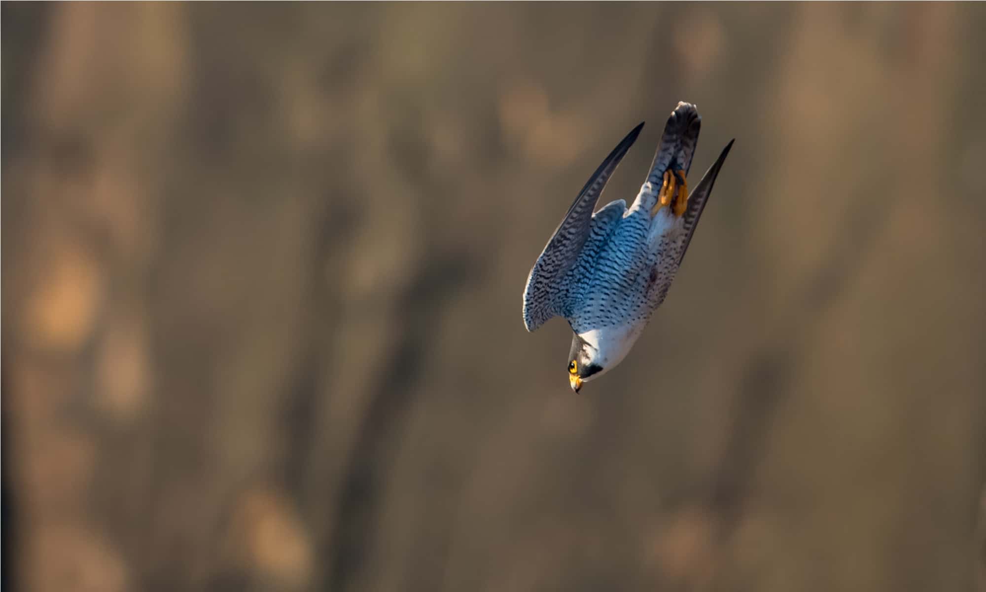
POLYGON ((564 305, 565 275, 579 259, 589 238, 599 195, 643 127, 643 123, 634 127, 602 161, 530 269, 524 290, 524 325, 528 331, 534 331, 557 315, 564 305))

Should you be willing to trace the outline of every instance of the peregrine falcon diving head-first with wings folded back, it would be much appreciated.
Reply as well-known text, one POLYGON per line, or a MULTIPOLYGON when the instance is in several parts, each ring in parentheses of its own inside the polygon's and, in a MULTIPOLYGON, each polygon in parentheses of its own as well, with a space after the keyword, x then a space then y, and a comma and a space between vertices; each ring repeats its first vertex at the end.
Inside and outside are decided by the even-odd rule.
POLYGON ((688 192, 702 117, 694 105, 671 111, 647 182, 629 209, 622 199, 595 214, 599 194, 644 124, 609 153, 534 262, 524 289, 524 324, 534 331, 563 317, 574 333, 568 381, 576 393, 619 364, 665 296, 719 170, 733 146, 688 192))

